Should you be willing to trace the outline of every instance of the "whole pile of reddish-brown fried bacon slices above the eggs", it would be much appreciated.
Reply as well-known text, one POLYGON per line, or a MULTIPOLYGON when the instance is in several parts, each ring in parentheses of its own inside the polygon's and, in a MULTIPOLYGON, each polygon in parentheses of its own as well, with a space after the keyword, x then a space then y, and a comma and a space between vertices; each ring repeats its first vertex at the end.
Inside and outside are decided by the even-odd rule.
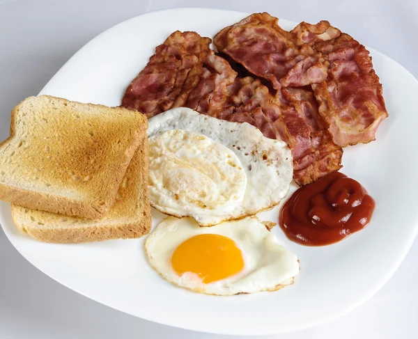
POLYGON ((189 107, 250 123, 288 144, 299 185, 338 171, 341 147, 374 140, 387 117, 369 52, 327 21, 288 32, 276 17, 256 13, 222 29, 214 43, 217 54, 209 38, 171 34, 127 88, 123 107, 145 109, 148 118, 189 107), (169 79, 162 69, 171 70, 169 79))

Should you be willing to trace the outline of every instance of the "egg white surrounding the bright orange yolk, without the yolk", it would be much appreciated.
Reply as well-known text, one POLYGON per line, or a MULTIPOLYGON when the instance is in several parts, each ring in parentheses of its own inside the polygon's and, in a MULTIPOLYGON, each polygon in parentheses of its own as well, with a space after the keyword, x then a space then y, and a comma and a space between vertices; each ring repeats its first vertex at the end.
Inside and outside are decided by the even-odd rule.
POLYGON ((278 290, 293 283, 299 272, 296 255, 281 246, 256 217, 201 228, 192 218, 167 217, 148 236, 145 251, 150 265, 167 281, 205 294, 231 295, 278 290), (201 234, 223 235, 241 250, 245 267, 238 274, 203 283, 197 274, 179 276, 171 267, 171 255, 187 239, 201 234))

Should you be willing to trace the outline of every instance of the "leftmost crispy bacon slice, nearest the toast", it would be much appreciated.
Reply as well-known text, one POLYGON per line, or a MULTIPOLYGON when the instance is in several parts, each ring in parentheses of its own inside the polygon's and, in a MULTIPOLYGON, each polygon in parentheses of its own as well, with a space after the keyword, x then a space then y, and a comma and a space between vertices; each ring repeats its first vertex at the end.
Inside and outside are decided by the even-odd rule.
POLYGON ((167 111, 175 101, 176 107, 181 106, 185 101, 183 85, 189 72, 201 72, 202 61, 210 53, 210 42, 210 38, 201 38, 195 32, 172 33, 128 86, 122 106, 148 117, 167 111))

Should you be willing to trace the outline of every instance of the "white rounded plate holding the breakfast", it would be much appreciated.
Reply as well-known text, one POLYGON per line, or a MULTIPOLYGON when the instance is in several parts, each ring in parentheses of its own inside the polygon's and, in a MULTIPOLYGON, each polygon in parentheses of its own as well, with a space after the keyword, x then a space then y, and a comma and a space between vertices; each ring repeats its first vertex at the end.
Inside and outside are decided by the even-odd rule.
MULTIPOLYGON (((245 16, 188 8, 134 17, 88 42, 41 93, 117 106, 127 85, 171 32, 197 31, 213 37, 245 16)), ((286 20, 280 24, 284 29, 295 26, 286 20)), ((361 36, 355 38, 362 41, 361 36)), ((174 287, 151 269, 144 239, 43 244, 14 228, 7 203, 0 203, 1 225, 17 251, 51 278, 146 320, 196 331, 261 335, 304 329, 339 317, 382 287, 418 231, 418 81, 387 56, 373 50, 371 54, 389 118, 380 126, 377 141, 345 149, 343 173, 359 180, 375 198, 373 219, 348 239, 319 248, 290 242, 279 227, 274 228, 281 243, 300 258, 300 275, 291 287, 233 297, 197 294, 174 287)), ((271 221, 277 221, 277 216, 278 208, 261 214, 271 221)), ((153 213, 154 226, 161 218, 162 214, 153 213)))

